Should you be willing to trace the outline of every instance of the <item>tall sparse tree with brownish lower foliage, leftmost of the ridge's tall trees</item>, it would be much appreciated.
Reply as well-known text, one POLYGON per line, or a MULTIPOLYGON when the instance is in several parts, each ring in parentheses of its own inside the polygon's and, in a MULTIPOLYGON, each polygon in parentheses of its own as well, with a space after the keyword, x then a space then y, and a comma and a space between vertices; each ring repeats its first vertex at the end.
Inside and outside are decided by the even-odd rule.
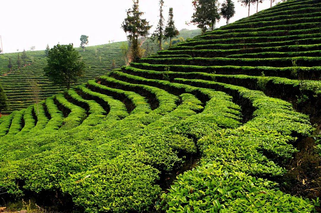
POLYGON ((139 0, 133 0, 133 8, 126 11, 127 17, 122 23, 122 29, 128 33, 127 39, 130 40, 130 60, 133 62, 138 61, 142 56, 142 50, 138 43, 139 37, 145 37, 148 35, 148 31, 152 26, 149 25, 149 22, 146 19, 142 19, 143 12, 139 11, 139 0))

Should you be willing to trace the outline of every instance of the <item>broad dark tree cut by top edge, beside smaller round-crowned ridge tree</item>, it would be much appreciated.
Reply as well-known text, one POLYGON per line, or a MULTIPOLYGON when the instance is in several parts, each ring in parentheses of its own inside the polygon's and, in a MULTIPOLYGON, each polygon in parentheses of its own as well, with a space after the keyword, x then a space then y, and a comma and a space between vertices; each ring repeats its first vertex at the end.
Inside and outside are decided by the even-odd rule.
POLYGON ((192 4, 195 12, 191 23, 197 24, 197 27, 202 30, 202 34, 206 32, 207 26, 213 31, 216 21, 221 18, 218 12, 218 0, 195 0, 192 4))

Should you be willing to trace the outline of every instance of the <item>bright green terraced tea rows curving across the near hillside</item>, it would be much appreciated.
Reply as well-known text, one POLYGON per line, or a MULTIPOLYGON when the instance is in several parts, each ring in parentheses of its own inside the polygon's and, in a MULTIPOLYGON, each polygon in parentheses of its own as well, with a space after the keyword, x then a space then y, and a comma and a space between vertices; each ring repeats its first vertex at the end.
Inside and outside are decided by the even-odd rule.
POLYGON ((320 125, 320 23, 320 0, 288 0, 14 111, 0 119, 0 196, 85 212, 316 211, 279 180, 320 125))

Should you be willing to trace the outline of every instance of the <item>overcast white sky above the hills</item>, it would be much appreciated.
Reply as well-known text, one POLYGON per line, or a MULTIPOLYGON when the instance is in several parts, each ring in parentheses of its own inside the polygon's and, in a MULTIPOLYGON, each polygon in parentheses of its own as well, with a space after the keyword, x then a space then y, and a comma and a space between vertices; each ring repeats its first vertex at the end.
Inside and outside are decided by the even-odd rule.
MULTIPOLYGON (((221 3, 223 0, 219 0, 221 3)), ((247 8, 237 0, 236 14, 230 20, 234 22, 247 16, 247 8)), ((175 24, 182 28, 187 26, 193 14, 192 0, 164 0, 164 16, 168 16, 169 7, 174 9, 175 24)), ((80 45, 82 34, 89 36, 89 46, 106 44, 108 40, 126 40, 125 32, 120 28, 126 12, 132 6, 132 0, 1 0, 0 35, 5 53, 22 51, 35 46, 36 50, 60 44, 74 43, 80 45)), ((156 26, 158 21, 159 0, 140 0, 140 9, 150 24, 156 26)), ((275 3, 273 3, 274 5, 275 3)), ((265 0, 259 4, 259 10, 270 6, 265 0)), ((256 5, 251 5, 250 14, 256 12, 256 5)), ((225 25, 225 20, 217 27, 225 25)), ((152 31, 154 28, 152 29, 152 31)))

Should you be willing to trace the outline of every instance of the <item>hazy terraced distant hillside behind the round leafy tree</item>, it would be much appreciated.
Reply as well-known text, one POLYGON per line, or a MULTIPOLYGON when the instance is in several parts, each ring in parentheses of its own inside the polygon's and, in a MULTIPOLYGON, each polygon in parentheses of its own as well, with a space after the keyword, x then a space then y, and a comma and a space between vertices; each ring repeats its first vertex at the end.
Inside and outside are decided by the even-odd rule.
MULTIPOLYGON (((184 39, 193 38, 201 33, 200 30, 181 30, 180 37, 184 39)), ((84 83, 89 79, 105 74, 111 69, 113 59, 116 61, 117 67, 124 64, 121 53, 122 42, 111 44, 103 44, 98 46, 87 47, 85 52, 81 48, 77 48, 82 55, 83 60, 88 66, 86 75, 80 83, 84 83)), ((158 51, 158 44, 147 39, 143 43, 143 48, 147 48, 149 55, 158 51)), ((21 56, 22 53, 20 53, 21 56)), ((46 56, 44 50, 27 51, 28 65, 17 69, 16 61, 18 53, 5 53, 0 55, 0 82, 9 98, 9 110, 5 113, 14 110, 20 110, 28 107, 32 100, 32 92, 30 84, 32 79, 36 79, 40 86, 40 98, 45 99, 62 90, 59 86, 53 86, 48 81, 48 78, 43 74, 43 68, 46 66, 46 56), (8 66, 9 57, 12 58, 13 71, 10 72, 8 66)))

